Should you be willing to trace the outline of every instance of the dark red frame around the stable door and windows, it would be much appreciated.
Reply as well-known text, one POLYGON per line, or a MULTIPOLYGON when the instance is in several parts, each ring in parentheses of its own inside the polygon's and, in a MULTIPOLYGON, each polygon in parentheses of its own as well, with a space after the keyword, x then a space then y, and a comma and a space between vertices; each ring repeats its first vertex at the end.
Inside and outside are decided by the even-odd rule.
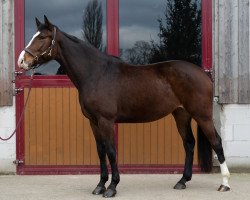
MULTIPOLYGON (((15 60, 24 48, 24 1, 15 1, 15 60)), ((107 52, 119 55, 119 0, 107 1, 107 52)), ((202 66, 204 69, 212 67, 212 0, 202 0, 202 66)), ((18 71, 18 67, 16 67, 18 71)), ((28 87, 27 76, 17 77, 16 87, 28 87)), ((74 87, 67 76, 38 76, 34 78, 33 87, 74 87)), ((16 121, 19 119, 24 106, 24 94, 16 97, 16 121)), ((16 158, 24 160, 24 123, 17 130, 16 158)), ((118 132, 116 126, 116 133, 118 132)), ((116 144, 118 135, 116 134, 116 144)), ((117 146, 118 147, 118 146, 117 146)), ((122 173, 182 173, 183 166, 166 165, 120 165, 122 173)), ((99 166, 17 166, 17 174, 90 174, 99 173, 99 166)), ((199 172, 195 166, 194 172, 199 172)))

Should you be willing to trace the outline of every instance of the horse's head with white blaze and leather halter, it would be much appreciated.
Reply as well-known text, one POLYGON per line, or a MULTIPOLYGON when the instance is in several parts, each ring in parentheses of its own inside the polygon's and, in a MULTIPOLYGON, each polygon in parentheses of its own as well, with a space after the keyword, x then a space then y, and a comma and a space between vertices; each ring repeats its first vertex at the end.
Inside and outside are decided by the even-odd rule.
POLYGON ((37 32, 20 53, 18 66, 29 70, 37 65, 55 59, 57 28, 44 16, 44 24, 36 18, 37 32))

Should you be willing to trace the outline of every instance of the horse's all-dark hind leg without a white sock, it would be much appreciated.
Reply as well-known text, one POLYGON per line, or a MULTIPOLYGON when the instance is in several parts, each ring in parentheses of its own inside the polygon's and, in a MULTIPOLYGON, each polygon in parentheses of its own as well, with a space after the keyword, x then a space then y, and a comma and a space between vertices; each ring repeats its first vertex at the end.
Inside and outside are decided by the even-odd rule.
POLYGON ((194 156, 195 139, 191 129, 191 116, 183 108, 176 109, 173 113, 178 131, 183 140, 186 152, 185 167, 181 180, 174 186, 174 189, 185 189, 186 182, 192 178, 192 166, 194 156))

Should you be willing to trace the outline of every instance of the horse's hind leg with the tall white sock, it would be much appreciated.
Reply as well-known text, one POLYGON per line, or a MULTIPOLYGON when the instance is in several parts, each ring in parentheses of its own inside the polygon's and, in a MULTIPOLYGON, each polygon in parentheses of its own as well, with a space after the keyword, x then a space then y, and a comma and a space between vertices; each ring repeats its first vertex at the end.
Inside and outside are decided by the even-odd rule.
POLYGON ((225 161, 225 156, 223 152, 221 137, 217 133, 213 120, 197 120, 201 129, 203 130, 205 136, 208 138, 213 150, 218 156, 218 160, 220 162, 220 169, 222 175, 222 184, 219 187, 218 191, 224 192, 230 190, 230 186, 228 184, 228 180, 230 178, 230 173, 227 168, 227 164, 225 161))

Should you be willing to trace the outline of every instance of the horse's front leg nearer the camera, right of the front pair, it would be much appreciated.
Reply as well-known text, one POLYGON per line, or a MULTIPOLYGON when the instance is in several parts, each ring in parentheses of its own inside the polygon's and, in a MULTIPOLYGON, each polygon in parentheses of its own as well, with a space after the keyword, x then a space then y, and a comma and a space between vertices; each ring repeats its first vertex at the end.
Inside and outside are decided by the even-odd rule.
POLYGON ((116 161, 114 122, 105 118, 101 118, 98 121, 98 127, 102 131, 102 134, 105 138, 106 151, 112 170, 111 183, 108 186, 107 190, 104 192, 103 196, 114 197, 116 195, 116 186, 120 182, 120 175, 116 161))

